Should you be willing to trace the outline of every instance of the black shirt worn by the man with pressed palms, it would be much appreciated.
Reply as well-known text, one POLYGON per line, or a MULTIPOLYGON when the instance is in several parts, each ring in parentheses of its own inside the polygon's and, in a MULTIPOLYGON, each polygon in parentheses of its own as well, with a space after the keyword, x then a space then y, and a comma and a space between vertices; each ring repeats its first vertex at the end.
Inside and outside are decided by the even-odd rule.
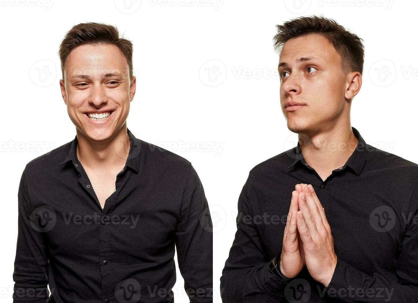
POLYGON ((250 171, 222 271, 223 302, 418 302, 418 165, 352 130, 356 149, 324 181, 299 144, 250 171), (326 289, 306 265, 288 283, 268 268, 281 253, 298 183, 312 184, 334 237, 337 264, 326 289))

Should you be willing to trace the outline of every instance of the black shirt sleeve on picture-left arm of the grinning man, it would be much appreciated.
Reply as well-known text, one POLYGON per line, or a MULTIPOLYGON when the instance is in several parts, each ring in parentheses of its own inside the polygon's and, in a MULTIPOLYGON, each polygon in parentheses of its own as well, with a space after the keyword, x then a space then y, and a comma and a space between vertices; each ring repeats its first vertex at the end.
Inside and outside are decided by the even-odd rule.
MULTIPOLYGON (((33 212, 26 168, 18 190, 18 240, 13 271, 13 302, 45 302, 49 296, 47 246, 43 232, 31 225, 33 212)), ((35 225, 36 227, 36 225, 35 225)))

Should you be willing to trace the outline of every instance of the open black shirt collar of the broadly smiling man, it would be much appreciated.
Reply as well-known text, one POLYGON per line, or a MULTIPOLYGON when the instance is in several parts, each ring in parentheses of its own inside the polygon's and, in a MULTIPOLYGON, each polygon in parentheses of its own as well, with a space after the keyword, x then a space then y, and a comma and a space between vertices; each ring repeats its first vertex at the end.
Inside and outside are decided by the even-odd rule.
MULTIPOLYGON (((130 148, 129 148, 129 154, 126 159, 126 166, 132 168, 135 172, 139 172, 139 153, 141 150, 141 141, 140 139, 136 138, 132 132, 127 128, 127 134, 129 136, 130 141, 130 148)), ((77 135, 75 136, 74 140, 71 142, 70 149, 68 153, 65 153, 66 157, 64 161, 62 161, 60 164, 64 164, 66 162, 72 161, 76 166, 78 167, 78 158, 77 158, 77 135)), ((65 150, 65 149, 64 149, 65 150)))

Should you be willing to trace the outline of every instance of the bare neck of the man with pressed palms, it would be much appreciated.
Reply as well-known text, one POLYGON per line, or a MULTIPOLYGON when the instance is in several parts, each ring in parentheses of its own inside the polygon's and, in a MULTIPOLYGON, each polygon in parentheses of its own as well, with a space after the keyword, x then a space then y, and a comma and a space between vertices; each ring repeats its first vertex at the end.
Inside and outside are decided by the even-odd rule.
POLYGON ((299 134, 299 145, 306 163, 315 170, 332 172, 344 166, 357 146, 351 125, 299 134))

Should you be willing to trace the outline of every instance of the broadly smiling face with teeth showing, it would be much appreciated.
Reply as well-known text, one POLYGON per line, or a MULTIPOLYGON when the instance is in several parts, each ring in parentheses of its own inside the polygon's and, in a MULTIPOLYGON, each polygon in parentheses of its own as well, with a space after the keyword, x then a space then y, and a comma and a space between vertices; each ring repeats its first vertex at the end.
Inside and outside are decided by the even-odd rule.
POLYGON ((65 61, 61 93, 76 128, 92 140, 106 140, 125 125, 136 80, 115 45, 80 45, 65 61))

